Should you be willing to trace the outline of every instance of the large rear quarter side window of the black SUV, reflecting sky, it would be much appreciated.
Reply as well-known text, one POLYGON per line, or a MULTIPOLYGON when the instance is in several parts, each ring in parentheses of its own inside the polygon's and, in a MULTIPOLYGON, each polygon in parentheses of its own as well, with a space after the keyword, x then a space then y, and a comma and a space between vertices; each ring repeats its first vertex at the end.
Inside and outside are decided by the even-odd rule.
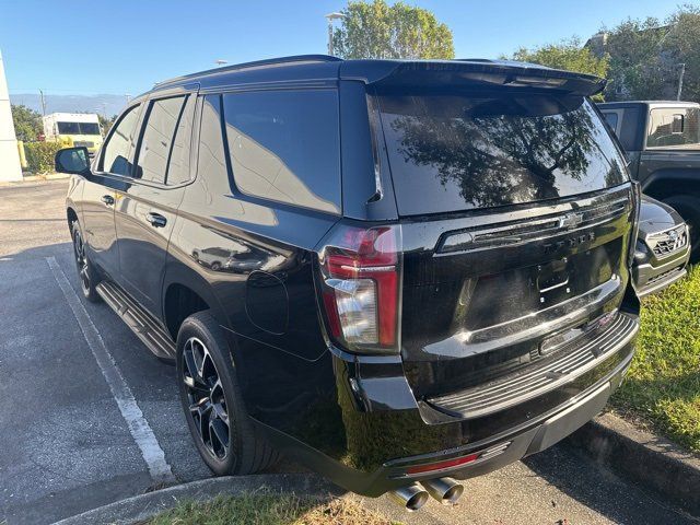
POLYGON ((226 94, 223 105, 231 167, 241 191, 340 212, 335 91, 226 94))

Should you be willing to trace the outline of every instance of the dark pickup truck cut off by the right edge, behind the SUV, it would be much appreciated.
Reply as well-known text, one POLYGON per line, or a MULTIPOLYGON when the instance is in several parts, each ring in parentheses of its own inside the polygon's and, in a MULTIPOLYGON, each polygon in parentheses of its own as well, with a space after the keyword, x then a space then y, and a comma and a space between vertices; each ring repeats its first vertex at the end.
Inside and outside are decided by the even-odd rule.
POLYGON ((598 108, 645 195, 673 207, 690 230, 690 260, 700 260, 700 104, 609 102, 598 108))

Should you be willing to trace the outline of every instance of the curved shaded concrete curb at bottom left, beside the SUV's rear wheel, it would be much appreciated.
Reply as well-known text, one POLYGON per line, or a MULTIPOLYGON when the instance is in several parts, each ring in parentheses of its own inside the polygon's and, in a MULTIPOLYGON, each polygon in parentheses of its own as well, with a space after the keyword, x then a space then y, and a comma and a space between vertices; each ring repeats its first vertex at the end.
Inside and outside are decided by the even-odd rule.
POLYGON ((54 525, 133 524, 171 509, 183 500, 203 501, 219 494, 240 494, 266 488, 277 492, 298 494, 338 494, 338 488, 310 474, 260 474, 226 476, 168 487, 135 495, 92 511, 78 514, 54 525))

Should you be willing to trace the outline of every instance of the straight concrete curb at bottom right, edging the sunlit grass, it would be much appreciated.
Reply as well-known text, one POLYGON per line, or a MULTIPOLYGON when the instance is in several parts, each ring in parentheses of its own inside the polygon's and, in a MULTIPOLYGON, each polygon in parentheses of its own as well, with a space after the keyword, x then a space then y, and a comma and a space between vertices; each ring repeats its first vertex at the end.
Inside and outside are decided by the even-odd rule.
POLYGON ((596 462, 700 516, 700 458, 664 438, 605 413, 570 441, 596 462))

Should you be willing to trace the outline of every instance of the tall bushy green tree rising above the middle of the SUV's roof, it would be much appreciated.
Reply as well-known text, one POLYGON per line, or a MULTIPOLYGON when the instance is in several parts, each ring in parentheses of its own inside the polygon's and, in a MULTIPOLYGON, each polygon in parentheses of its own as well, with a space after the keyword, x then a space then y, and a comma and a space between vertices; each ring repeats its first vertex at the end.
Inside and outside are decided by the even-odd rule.
POLYGON ((341 58, 454 58, 452 31, 422 8, 350 1, 334 32, 334 51, 341 58))

